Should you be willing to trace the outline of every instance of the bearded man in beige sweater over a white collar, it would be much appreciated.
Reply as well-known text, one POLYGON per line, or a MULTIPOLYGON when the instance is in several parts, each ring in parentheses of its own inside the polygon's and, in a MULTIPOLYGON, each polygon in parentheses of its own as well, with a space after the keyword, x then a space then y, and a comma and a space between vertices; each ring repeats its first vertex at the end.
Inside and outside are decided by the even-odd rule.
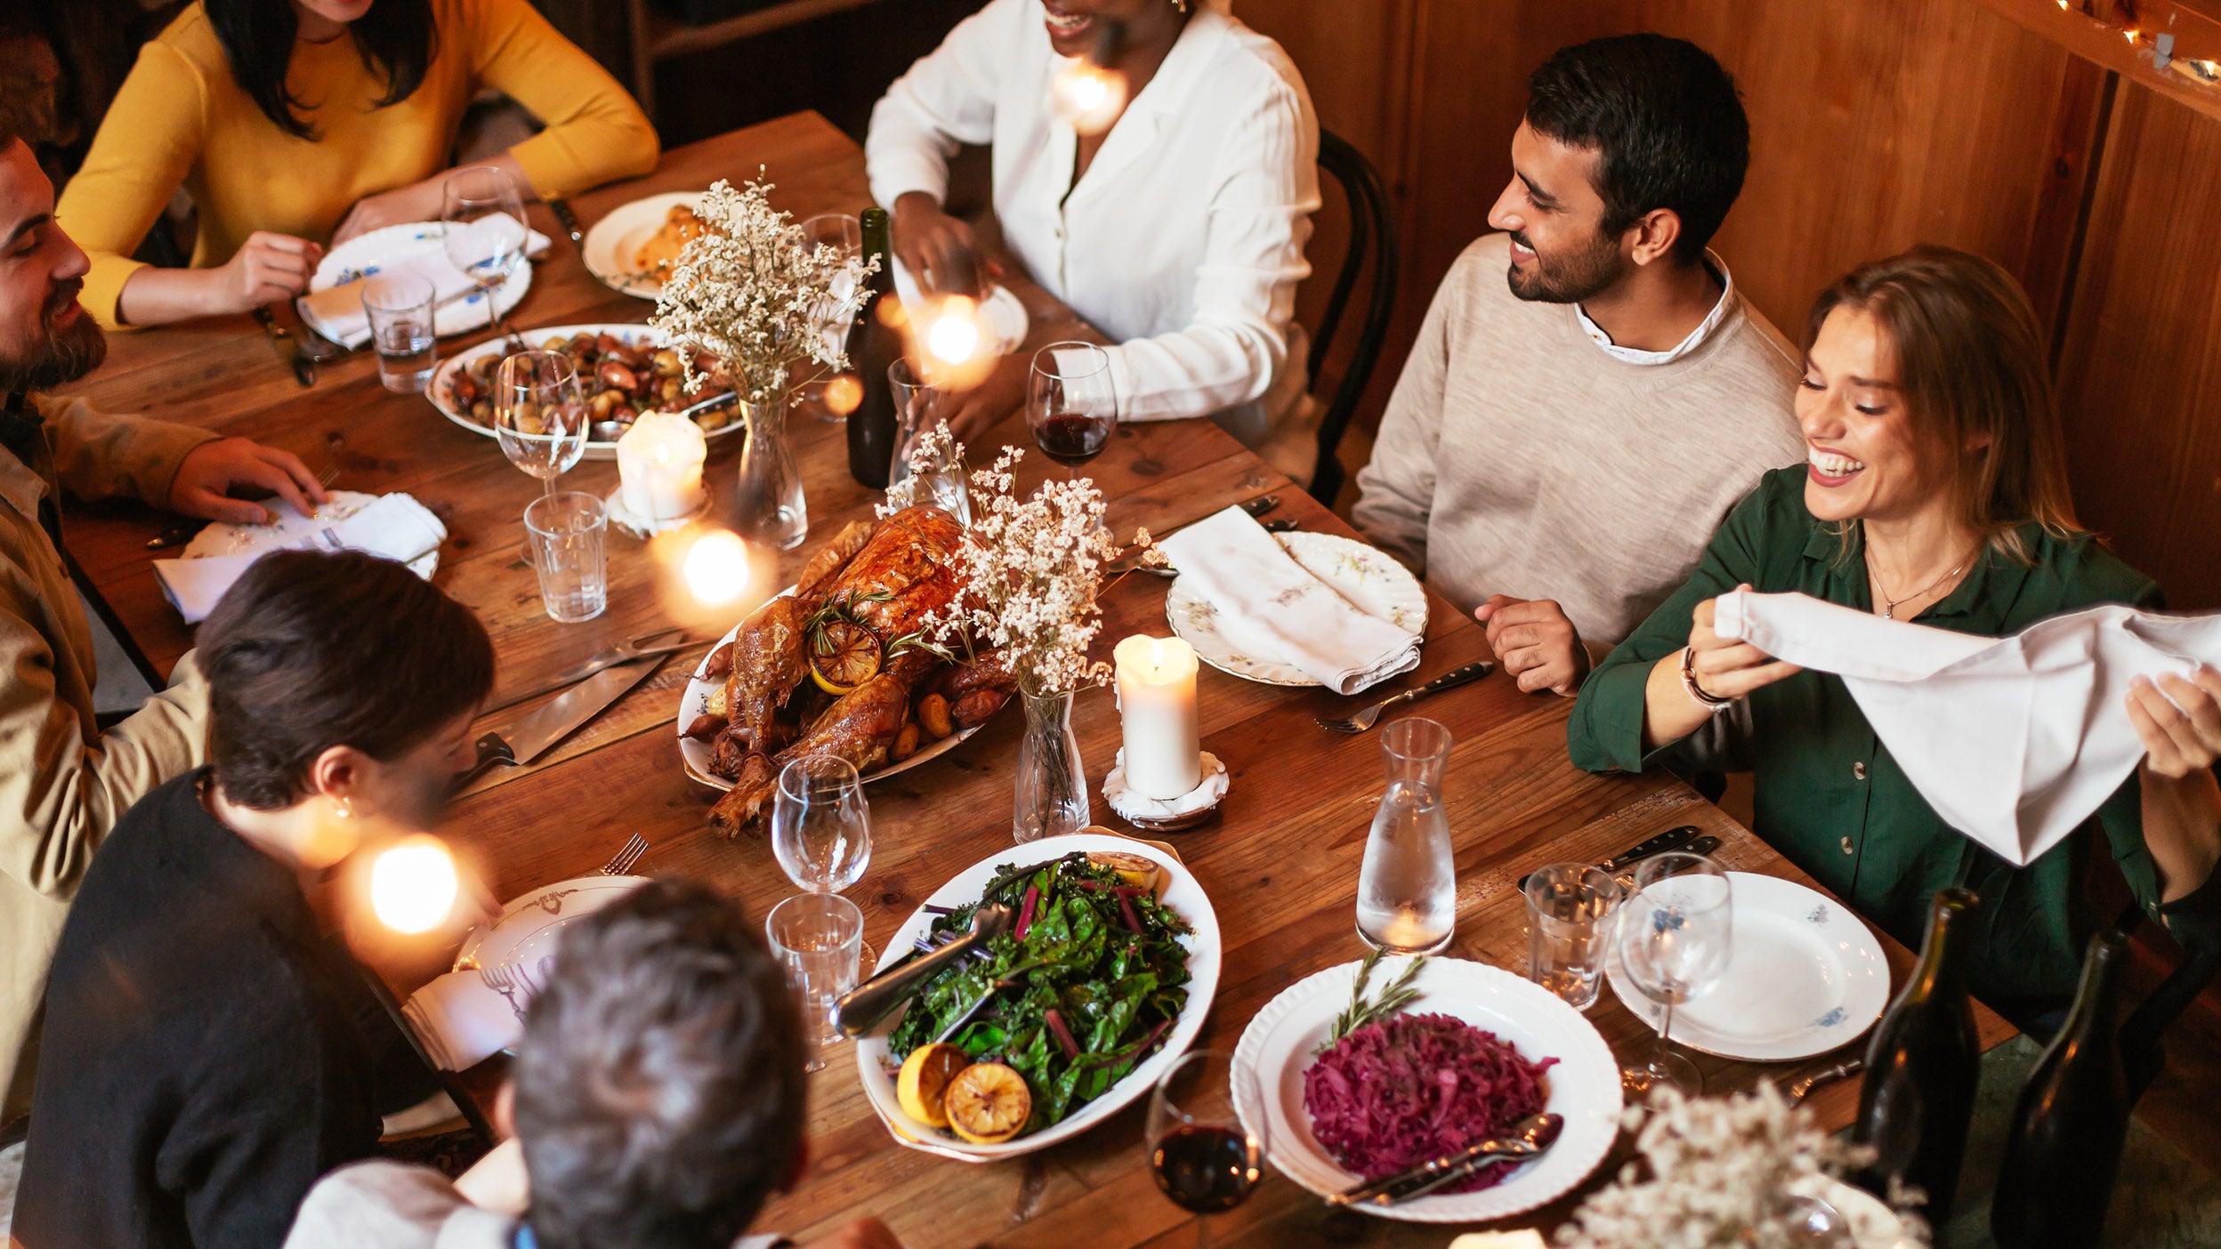
POLYGON ((1575 693, 1735 500, 1803 458, 1801 356, 1706 251, 1750 124, 1704 49, 1624 36, 1528 80, 1513 180, 1435 291, 1357 527, 1575 693))

